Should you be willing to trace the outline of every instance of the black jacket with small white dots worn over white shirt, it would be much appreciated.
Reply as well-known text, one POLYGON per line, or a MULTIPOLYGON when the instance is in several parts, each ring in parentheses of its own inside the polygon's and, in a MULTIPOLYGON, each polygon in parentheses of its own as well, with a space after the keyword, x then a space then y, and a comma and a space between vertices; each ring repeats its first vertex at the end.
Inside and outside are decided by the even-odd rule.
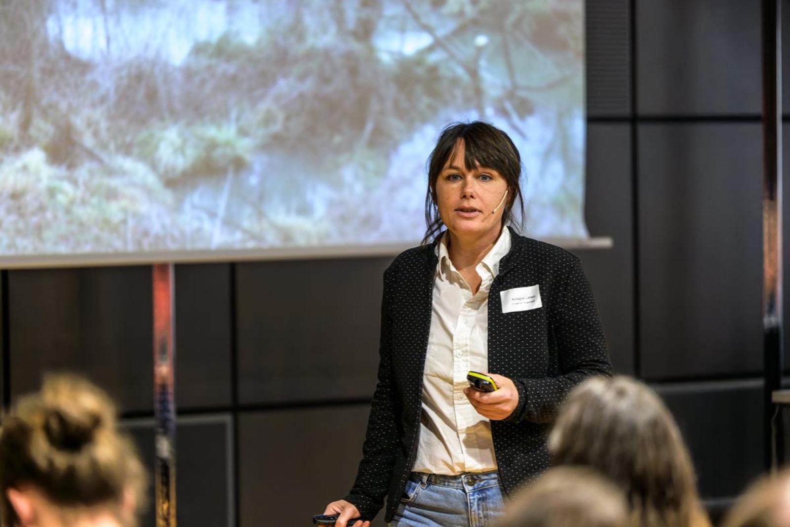
MULTIPOLYGON (((549 464, 547 429, 566 394, 591 375, 611 375, 604 333, 578 258, 511 232, 488 296, 488 371, 513 379, 518 405, 491 422, 506 493, 549 464), (502 313, 499 292, 540 286, 543 307, 502 313)), ((435 243, 401 253, 384 273, 378 385, 363 460, 344 499, 371 519, 388 495, 390 521, 416 457, 423 366, 431 328, 435 243)))

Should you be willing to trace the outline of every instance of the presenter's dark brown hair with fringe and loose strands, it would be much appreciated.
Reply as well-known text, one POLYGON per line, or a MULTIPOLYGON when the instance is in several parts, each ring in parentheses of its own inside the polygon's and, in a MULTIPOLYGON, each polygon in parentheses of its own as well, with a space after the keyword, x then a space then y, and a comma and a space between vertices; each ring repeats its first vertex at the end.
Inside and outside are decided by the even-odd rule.
POLYGON ((426 231, 422 244, 433 242, 442 232, 442 217, 436 205, 436 179, 453 156, 459 141, 465 146, 464 165, 467 170, 478 164, 493 168, 505 178, 509 191, 502 211, 502 227, 513 224, 521 228, 524 224, 524 199, 521 197, 521 155, 510 137, 496 126, 487 122, 453 122, 442 130, 428 156, 428 189, 425 195, 426 231), (520 217, 513 217, 513 205, 518 200, 520 217))

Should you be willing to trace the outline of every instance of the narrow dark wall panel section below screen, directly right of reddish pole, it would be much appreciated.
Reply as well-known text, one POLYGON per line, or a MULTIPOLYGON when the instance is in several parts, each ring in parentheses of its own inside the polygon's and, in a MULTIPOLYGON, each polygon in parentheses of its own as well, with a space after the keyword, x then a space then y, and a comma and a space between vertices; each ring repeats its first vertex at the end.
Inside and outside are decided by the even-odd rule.
POLYGON ((231 404, 231 264, 175 268, 175 400, 231 404))

